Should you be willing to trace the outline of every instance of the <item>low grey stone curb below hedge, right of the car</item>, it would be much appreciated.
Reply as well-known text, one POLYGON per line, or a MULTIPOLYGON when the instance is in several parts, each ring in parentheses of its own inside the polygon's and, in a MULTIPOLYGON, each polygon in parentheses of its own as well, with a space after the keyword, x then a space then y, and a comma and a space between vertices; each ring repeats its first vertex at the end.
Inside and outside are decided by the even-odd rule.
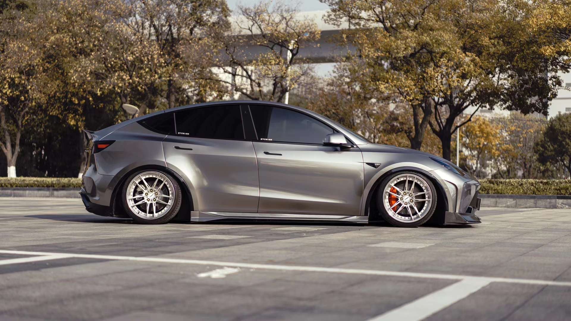
POLYGON ((571 195, 480 194, 481 207, 571 208, 571 195))

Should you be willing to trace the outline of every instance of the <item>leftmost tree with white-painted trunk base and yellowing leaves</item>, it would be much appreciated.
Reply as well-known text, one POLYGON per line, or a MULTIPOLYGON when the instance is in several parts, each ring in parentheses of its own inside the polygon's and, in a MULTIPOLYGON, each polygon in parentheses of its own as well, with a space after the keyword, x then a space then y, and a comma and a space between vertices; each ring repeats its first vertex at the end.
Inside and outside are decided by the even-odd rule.
POLYGON ((6 156, 9 177, 17 174, 24 126, 56 86, 47 78, 42 56, 46 33, 34 23, 35 6, 17 4, 0 13, 0 149, 6 156))

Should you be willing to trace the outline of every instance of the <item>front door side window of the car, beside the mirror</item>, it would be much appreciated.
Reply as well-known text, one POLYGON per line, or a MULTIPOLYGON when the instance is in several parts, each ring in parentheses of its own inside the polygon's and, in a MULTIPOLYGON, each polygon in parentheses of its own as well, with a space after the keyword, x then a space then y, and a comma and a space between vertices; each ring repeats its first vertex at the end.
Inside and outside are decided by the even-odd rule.
POLYGON ((323 144, 331 127, 297 111, 280 107, 251 105, 258 139, 276 142, 323 144))

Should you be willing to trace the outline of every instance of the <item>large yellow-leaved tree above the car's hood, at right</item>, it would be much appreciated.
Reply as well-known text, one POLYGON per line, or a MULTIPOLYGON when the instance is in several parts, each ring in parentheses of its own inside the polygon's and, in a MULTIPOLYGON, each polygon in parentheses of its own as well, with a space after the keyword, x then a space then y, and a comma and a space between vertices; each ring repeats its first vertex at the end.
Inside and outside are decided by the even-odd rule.
POLYGON ((331 7, 329 21, 351 26, 344 35, 367 64, 365 85, 380 99, 397 95, 411 107, 411 146, 420 148, 429 126, 446 159, 452 135, 471 121, 457 121, 466 111, 501 107, 545 114, 561 85, 556 71, 568 70, 568 47, 550 46, 568 42, 557 34, 570 24, 548 32, 550 21, 532 23, 543 17, 538 12, 547 0, 323 2, 331 7))

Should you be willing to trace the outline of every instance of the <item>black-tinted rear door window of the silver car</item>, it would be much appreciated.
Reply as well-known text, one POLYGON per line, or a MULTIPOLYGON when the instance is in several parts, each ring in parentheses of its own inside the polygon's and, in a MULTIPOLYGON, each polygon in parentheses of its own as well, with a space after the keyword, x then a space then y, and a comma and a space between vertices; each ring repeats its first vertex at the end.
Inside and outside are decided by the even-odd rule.
POLYGON ((240 106, 191 108, 175 114, 176 134, 188 137, 244 139, 240 106))

